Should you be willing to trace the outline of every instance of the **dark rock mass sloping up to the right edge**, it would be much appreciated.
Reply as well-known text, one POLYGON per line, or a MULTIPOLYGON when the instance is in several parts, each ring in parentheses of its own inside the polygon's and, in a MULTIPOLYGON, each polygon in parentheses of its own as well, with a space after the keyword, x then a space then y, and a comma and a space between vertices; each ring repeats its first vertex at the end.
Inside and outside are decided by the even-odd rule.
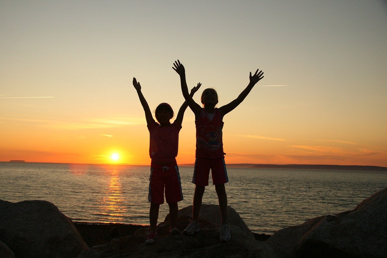
POLYGON ((281 229, 265 243, 279 257, 387 257, 386 214, 387 188, 354 210, 281 229))

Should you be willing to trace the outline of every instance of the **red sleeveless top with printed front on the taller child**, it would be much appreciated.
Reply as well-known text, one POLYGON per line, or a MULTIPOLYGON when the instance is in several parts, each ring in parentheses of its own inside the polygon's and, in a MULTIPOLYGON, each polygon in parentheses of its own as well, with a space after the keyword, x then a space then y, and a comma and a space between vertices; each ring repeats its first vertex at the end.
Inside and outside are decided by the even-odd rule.
POLYGON ((196 126, 196 158, 224 158, 222 129, 223 121, 218 108, 215 108, 214 117, 209 119, 204 108, 196 126))

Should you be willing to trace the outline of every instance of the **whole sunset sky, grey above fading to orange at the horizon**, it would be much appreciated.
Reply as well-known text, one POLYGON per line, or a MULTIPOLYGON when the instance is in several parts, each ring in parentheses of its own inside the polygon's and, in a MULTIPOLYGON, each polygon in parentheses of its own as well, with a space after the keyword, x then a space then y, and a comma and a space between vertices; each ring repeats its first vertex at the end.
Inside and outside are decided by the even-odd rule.
POLYGON ((0 161, 149 164, 132 79, 177 114, 179 59, 219 107, 264 71, 224 117, 226 163, 387 167, 386 1, 1 0, 0 35, 0 161))

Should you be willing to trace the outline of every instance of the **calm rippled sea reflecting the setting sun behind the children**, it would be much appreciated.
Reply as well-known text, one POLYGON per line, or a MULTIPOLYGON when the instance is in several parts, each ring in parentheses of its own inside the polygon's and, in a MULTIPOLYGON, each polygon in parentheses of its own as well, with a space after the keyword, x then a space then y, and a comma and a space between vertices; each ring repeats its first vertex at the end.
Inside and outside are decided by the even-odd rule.
MULTIPOLYGON (((179 170, 184 195, 179 208, 184 208, 192 205, 193 168, 179 170)), ((387 187, 386 172, 241 168, 227 171, 228 205, 253 232, 265 234, 310 218, 352 210, 387 187)), ((149 174, 149 166, 0 162, 0 199, 50 201, 73 221, 149 224, 149 174)), ((217 205, 211 184, 206 187, 203 203, 217 205)), ((160 206, 158 222, 164 221, 167 214, 165 203, 160 206)))

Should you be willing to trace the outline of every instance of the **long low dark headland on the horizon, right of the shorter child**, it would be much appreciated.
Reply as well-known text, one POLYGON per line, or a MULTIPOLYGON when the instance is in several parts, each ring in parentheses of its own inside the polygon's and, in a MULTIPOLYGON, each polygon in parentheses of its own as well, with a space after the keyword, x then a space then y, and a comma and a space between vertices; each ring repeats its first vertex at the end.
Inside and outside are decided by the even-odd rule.
MULTIPOLYGON (((193 167, 194 164, 180 164, 182 167, 193 167)), ((386 171, 387 167, 358 165, 304 165, 304 164, 226 164, 226 167, 256 168, 256 169, 316 169, 316 170, 354 170, 354 171, 386 171)))

